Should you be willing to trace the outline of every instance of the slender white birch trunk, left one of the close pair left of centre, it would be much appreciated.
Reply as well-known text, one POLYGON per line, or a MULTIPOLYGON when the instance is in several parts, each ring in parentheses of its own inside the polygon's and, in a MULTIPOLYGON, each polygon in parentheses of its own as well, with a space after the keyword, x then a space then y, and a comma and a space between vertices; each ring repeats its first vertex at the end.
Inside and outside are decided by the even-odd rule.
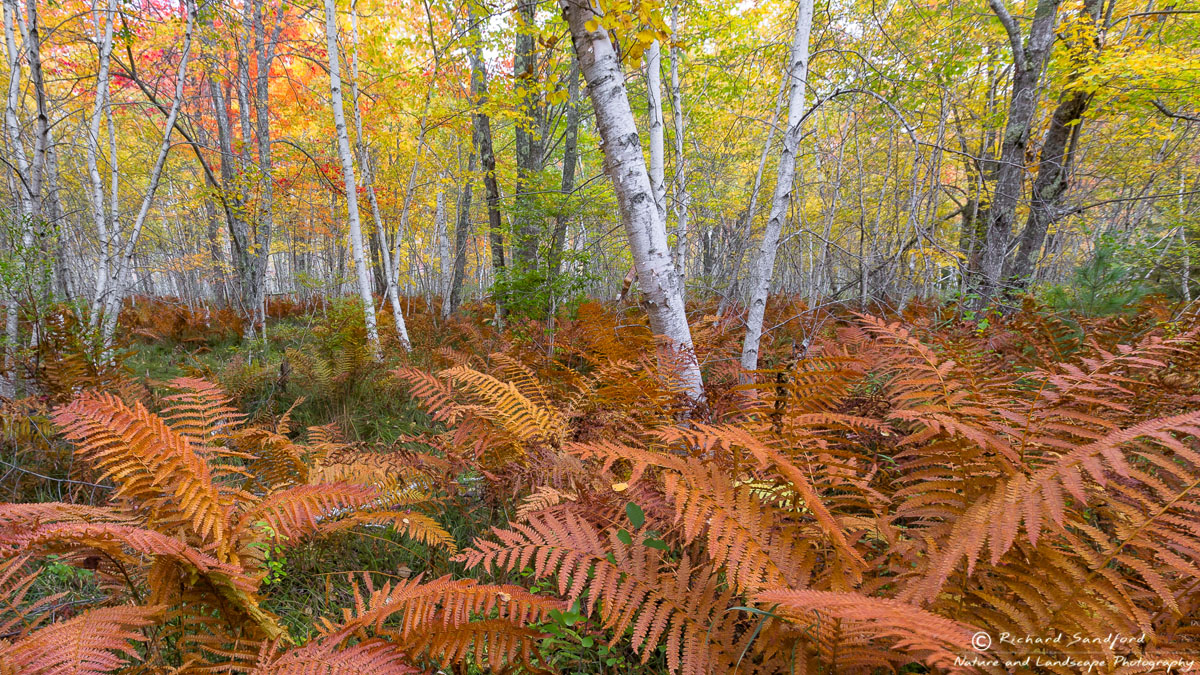
POLYGON ((359 198, 355 191, 354 155, 350 154, 350 137, 346 130, 346 113, 342 109, 342 76, 337 52, 337 7, 335 0, 325 0, 325 43, 329 49, 329 95, 334 108, 334 126, 337 130, 337 154, 342 160, 342 178, 346 185, 346 210, 350 225, 350 250, 354 255, 354 271, 359 280, 359 295, 362 299, 362 319, 367 328, 367 347, 378 360, 383 358, 379 348, 379 329, 376 327, 374 299, 371 297, 371 277, 367 273, 367 259, 362 251, 362 227, 359 221, 359 198))

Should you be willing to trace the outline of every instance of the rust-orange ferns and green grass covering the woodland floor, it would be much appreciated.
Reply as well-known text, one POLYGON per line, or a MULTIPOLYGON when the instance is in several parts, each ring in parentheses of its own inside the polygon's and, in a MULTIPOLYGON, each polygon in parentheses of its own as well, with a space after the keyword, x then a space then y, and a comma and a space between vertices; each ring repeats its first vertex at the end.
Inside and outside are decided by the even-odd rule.
POLYGON ((0 668, 1001 673, 979 659, 1026 656, 972 649, 983 631, 1145 634, 1038 653, 1160 671, 1138 664, 1200 651, 1200 323, 1176 307, 1026 300, 983 324, 780 297, 743 382, 738 331, 697 305, 701 407, 636 307, 583 304, 551 340, 413 300, 414 350, 382 363, 353 304, 272 305, 254 358, 235 318, 138 298, 121 357, 97 363, 62 315, 60 348, 26 364, 38 393, 5 402, 0 668))

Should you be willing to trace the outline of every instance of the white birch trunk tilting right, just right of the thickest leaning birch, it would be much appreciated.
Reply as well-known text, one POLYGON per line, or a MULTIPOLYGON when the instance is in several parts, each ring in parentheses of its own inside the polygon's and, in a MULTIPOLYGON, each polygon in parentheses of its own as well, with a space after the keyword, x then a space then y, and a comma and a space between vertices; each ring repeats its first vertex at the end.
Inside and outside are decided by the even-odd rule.
POLYGON ((800 121, 804 119, 804 95, 809 78, 809 34, 812 29, 812 0, 799 0, 796 16, 796 37, 787 64, 787 129, 784 132, 784 149, 779 156, 775 195, 770 203, 770 216, 758 245, 758 255, 750 269, 750 311, 746 317, 746 336, 742 345, 742 368, 758 368, 758 342, 762 340, 762 318, 767 311, 767 295, 775 271, 775 253, 779 237, 787 219, 787 207, 792 197, 796 178, 796 154, 800 144, 800 121))

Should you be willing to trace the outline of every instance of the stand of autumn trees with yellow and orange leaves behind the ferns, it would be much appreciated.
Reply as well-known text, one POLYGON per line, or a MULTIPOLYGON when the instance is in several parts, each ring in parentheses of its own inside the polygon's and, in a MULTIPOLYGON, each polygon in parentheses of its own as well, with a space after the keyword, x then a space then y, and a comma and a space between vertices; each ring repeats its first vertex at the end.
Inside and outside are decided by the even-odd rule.
POLYGON ((749 309, 746 365, 772 292, 982 307, 1116 246, 1190 293, 1195 14, 1174 5, 817 6, 803 46, 803 4, 616 7, 586 26, 606 100, 536 2, 209 2, 194 46, 172 4, 5 7, 8 352, 22 307, 74 303, 107 340, 134 293, 229 304, 247 339, 268 297, 350 288, 401 334, 404 294, 544 317, 634 285, 667 307, 641 269, 665 281, 660 253, 667 295, 749 309), (666 237, 644 250, 614 235, 616 97, 666 237))

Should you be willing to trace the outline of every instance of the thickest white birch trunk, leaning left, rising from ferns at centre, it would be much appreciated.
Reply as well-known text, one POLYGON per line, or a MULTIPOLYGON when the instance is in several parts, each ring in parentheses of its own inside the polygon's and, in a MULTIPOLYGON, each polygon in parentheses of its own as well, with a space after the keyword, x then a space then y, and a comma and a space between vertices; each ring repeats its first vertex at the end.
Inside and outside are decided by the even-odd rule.
POLYGON ((691 342, 679 276, 671 262, 666 227, 659 216, 634 112, 629 107, 620 61, 604 28, 588 30, 589 22, 595 23, 590 5, 578 0, 559 2, 588 83, 596 129, 604 143, 605 171, 617 192, 638 283, 646 295, 650 329, 670 340, 683 389, 694 402, 701 402, 704 383, 691 342))

